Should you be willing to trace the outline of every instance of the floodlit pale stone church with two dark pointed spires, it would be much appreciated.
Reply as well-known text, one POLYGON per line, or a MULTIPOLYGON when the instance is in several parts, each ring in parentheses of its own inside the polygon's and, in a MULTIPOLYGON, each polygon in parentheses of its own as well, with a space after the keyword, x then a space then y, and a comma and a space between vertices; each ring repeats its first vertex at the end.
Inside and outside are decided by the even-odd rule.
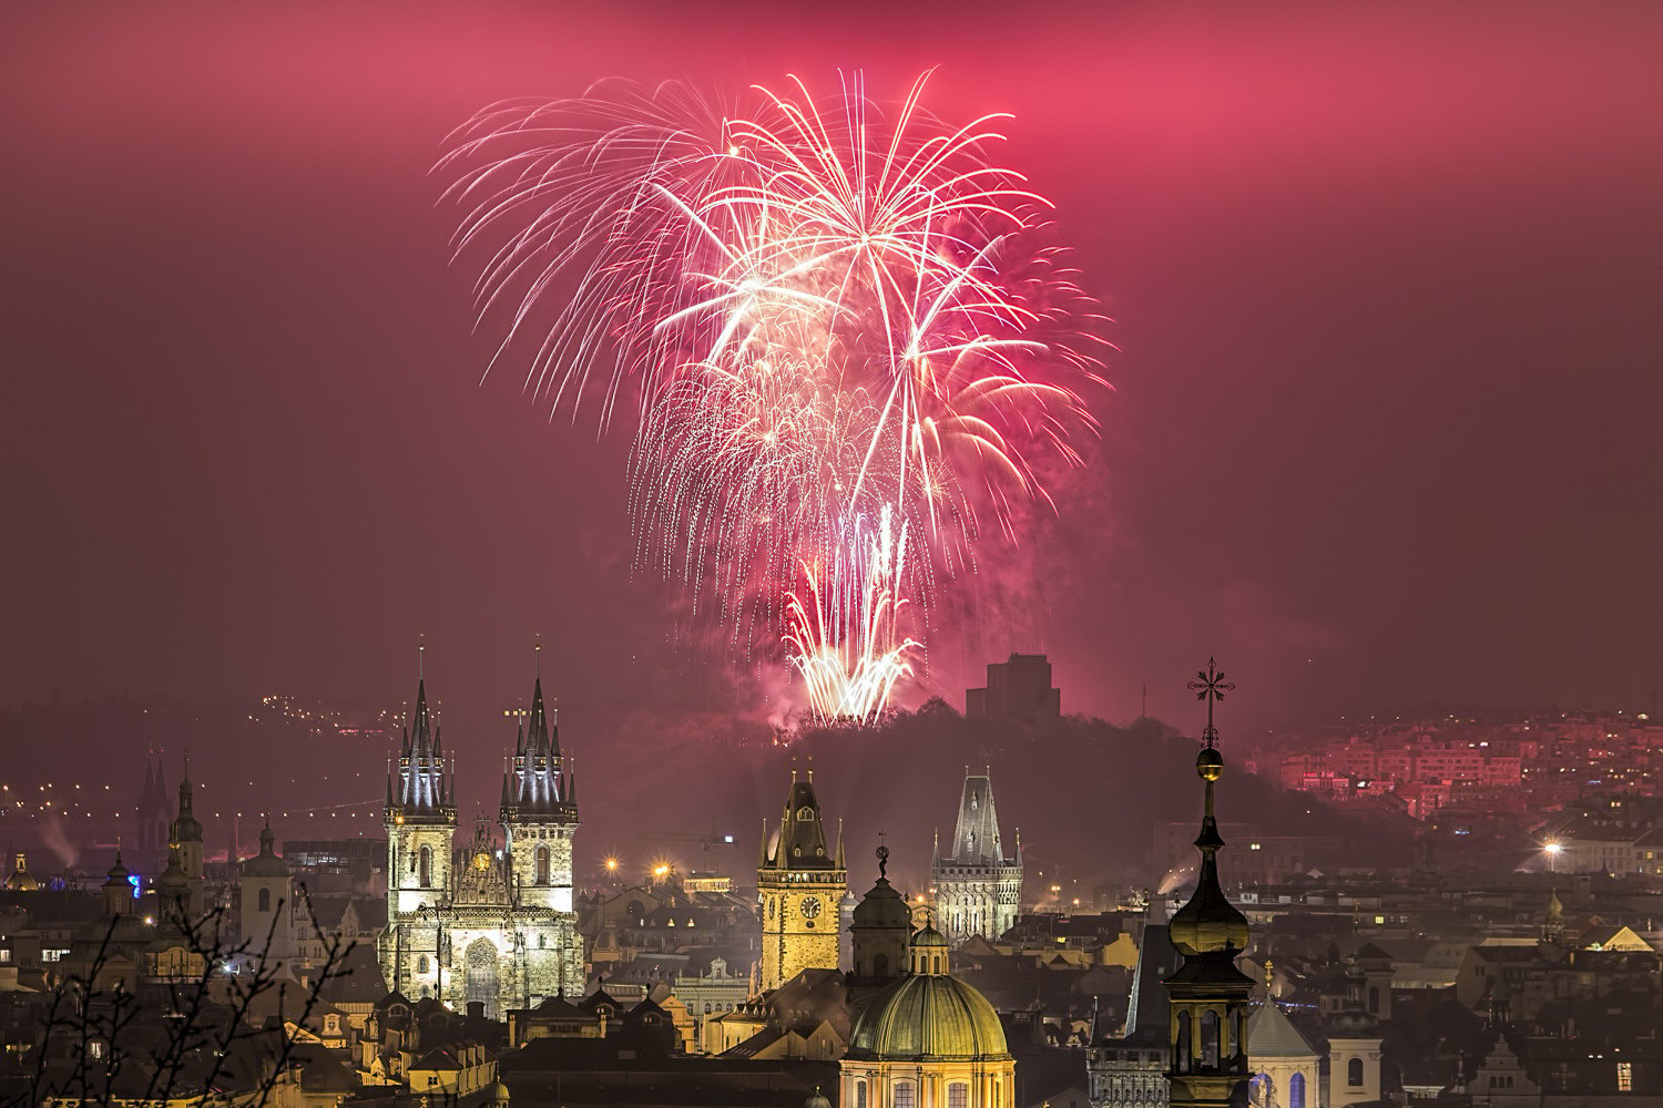
POLYGON ((446 769, 426 681, 387 777, 387 927, 378 942, 387 985, 486 1015, 584 992, 572 910, 574 776, 539 678, 502 777, 496 831, 481 819, 457 847, 454 769, 446 769))

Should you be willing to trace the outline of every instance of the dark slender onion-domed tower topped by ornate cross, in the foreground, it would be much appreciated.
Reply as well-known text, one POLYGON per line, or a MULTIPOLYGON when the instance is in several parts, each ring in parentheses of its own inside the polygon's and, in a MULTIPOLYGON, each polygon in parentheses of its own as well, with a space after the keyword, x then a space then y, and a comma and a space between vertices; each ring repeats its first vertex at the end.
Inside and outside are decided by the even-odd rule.
POLYGON ((1196 892, 1169 925, 1172 947, 1182 963, 1166 978, 1172 1002, 1172 1057, 1167 1088, 1172 1108, 1226 1108, 1247 1103, 1247 998, 1252 978, 1236 968, 1236 955, 1247 947, 1247 917, 1219 887, 1219 821, 1212 814, 1212 786, 1224 774, 1212 726, 1212 703, 1224 699, 1234 684, 1207 659, 1199 681, 1189 684, 1207 701, 1206 746, 1196 756, 1196 774, 1206 782, 1201 817, 1201 870, 1196 892))

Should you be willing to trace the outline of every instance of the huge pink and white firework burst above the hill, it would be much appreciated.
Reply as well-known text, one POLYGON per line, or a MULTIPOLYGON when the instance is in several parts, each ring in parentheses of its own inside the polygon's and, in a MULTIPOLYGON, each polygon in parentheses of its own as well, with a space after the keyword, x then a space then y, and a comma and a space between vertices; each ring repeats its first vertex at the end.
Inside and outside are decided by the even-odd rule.
POLYGON ((680 85, 492 106, 441 163, 482 316, 535 342, 527 387, 635 405, 639 558, 740 650, 783 645, 822 716, 911 673, 938 581, 1046 498, 1094 424, 1094 304, 994 168, 998 116, 680 85), (783 628, 783 630, 782 630, 783 628))

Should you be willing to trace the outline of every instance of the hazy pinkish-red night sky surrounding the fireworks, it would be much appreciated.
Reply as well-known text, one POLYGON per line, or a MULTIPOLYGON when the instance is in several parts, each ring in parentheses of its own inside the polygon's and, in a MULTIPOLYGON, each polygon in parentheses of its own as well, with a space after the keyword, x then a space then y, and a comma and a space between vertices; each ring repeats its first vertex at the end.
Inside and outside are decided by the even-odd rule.
POLYGON ((469 729, 540 635, 595 728, 765 714, 630 570, 627 429, 481 384, 429 169, 497 98, 840 66, 1013 111, 1114 317, 1089 465, 950 586, 925 691, 1011 650, 1109 719, 1217 655, 1256 728, 1663 684, 1655 5, 680 7, 7 5, 0 703, 397 701, 426 635, 469 729))

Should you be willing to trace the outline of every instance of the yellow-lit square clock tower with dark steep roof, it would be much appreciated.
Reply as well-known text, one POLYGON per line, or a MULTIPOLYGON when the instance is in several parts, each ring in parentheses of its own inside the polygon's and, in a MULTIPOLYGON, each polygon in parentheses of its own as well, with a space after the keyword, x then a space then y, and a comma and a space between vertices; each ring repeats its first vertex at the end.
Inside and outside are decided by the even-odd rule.
POLYGON ((780 827, 763 824, 757 892, 762 909, 762 990, 778 988, 807 968, 838 968, 838 902, 848 890, 843 844, 827 846, 815 797, 815 771, 785 796, 780 827))

